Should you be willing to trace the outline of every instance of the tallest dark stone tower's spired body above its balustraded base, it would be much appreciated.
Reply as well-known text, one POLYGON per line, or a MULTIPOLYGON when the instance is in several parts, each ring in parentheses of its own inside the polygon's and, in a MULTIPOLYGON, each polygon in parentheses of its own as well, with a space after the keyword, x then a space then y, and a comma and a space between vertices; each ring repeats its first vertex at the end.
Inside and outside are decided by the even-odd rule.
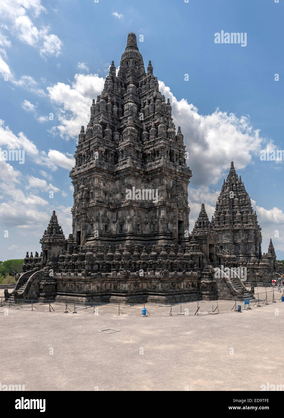
POLYGON ((151 61, 145 72, 134 33, 117 75, 112 61, 76 148, 70 177, 77 245, 185 247, 192 174, 183 134, 180 127, 176 132, 151 61))

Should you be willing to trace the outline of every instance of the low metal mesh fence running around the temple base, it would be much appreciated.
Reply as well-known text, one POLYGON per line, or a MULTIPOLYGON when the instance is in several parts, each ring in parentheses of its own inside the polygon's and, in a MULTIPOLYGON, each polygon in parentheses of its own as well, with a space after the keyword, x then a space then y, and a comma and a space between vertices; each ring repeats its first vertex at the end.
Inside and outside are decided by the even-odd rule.
MULTIPOLYGON (((265 303, 281 301, 284 291, 279 292, 277 288, 261 288, 255 293, 255 299, 249 302, 250 308, 255 308, 265 303)), ((218 301, 194 301, 185 303, 89 303, 86 305, 74 301, 35 301, 35 300, 7 300, 1 298, 0 306, 15 308, 19 310, 28 309, 31 311, 64 312, 77 314, 117 314, 117 315, 142 315, 142 308, 146 308, 147 315, 206 315, 219 314, 248 308, 243 301, 218 300, 218 301)))

